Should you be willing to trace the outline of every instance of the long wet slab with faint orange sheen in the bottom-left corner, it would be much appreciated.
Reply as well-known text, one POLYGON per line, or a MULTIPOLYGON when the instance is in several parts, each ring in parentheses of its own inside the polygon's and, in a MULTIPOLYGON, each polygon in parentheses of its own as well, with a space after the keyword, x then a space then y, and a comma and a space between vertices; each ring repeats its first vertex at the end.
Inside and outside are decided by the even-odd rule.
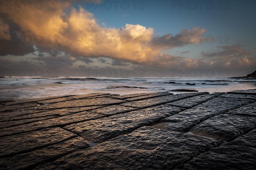
POLYGON ((0 158, 1 167, 5 170, 28 170, 87 147, 90 146, 84 139, 76 137, 32 152, 0 158))

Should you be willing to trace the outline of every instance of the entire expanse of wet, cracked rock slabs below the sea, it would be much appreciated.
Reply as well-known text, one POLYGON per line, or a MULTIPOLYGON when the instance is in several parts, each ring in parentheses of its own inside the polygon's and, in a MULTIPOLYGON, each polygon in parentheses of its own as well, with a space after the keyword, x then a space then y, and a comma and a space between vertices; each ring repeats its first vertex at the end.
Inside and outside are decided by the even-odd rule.
POLYGON ((0 104, 1 170, 253 170, 256 89, 0 104))

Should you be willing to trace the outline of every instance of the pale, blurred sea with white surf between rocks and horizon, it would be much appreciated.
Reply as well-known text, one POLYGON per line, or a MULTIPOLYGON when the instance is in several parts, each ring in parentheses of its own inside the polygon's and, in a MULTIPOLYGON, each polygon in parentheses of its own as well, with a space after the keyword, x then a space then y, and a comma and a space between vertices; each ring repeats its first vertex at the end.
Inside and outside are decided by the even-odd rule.
POLYGON ((90 93, 226 93, 253 88, 256 88, 256 79, 250 78, 1 77, 0 100, 17 101, 90 93))

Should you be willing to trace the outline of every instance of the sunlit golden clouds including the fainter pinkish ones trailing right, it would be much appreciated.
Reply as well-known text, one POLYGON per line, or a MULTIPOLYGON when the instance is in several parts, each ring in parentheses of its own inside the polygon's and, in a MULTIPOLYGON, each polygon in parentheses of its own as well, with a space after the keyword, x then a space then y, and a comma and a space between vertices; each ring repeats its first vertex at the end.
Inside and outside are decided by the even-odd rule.
MULTIPOLYGON (((47 2, 44 2, 47 6, 47 2)), ((75 57, 108 57, 120 59, 126 62, 133 62, 142 65, 155 65, 158 67, 198 68, 200 65, 214 66, 224 65, 230 67, 232 64, 250 65, 250 52, 240 45, 224 45, 222 51, 209 53, 202 52, 204 58, 190 59, 180 56, 172 56, 163 53, 174 47, 183 47, 191 43, 186 43, 177 39, 172 42, 173 34, 166 34, 162 37, 154 35, 153 28, 146 28, 139 24, 125 24, 122 28, 105 28, 99 26, 95 17, 81 6, 76 10, 68 1, 61 1, 58 10, 48 10, 35 8, 29 10, 9 10, 4 8, 1 13, 6 15, 6 19, 12 21, 20 27, 19 34, 41 35, 44 37, 43 43, 37 43, 32 39, 32 45, 36 45, 44 52, 56 50, 63 53, 72 54, 70 61, 76 61, 75 57), (71 9, 71 10, 67 10, 71 9), (68 11, 68 12, 67 12, 68 11), (49 35, 51 37, 49 43, 49 35), (52 38, 58 35, 58 44, 53 43, 52 38), (122 38, 121 38, 122 37, 122 38), (134 38, 136 37, 136 41, 134 38), (95 40, 96 38, 96 40, 95 40), (128 39, 127 39, 128 38, 128 39), (127 41, 127 40, 128 41, 127 41), (127 42, 126 42, 127 41, 127 42), (140 43, 141 42, 141 43, 140 43)), ((1 34, 9 34, 10 26, 0 19, 1 34)), ((181 30, 177 36, 195 36, 204 34, 205 28, 194 27, 191 30, 181 30)), ((191 39, 192 42, 195 40, 191 39)), ((200 41, 193 43, 200 44, 200 41)), ((188 53, 183 51, 180 54, 188 53)), ((70 63, 68 63, 70 65, 70 63)))

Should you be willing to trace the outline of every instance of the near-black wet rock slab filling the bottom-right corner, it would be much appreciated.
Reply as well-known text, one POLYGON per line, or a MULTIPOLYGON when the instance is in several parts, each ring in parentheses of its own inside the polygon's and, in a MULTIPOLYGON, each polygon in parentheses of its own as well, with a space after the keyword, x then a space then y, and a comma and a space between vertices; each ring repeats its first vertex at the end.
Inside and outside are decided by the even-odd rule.
POLYGON ((254 170, 256 130, 194 157, 175 170, 254 170))

